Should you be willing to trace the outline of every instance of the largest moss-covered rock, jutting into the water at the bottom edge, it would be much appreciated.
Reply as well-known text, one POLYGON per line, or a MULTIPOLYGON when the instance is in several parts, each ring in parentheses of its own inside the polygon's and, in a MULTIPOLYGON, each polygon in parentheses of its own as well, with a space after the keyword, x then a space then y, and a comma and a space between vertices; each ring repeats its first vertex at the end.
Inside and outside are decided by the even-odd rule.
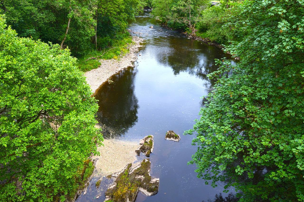
POLYGON ((151 162, 144 159, 138 166, 132 169, 129 163, 122 171, 114 173, 114 183, 105 192, 105 201, 133 202, 139 191, 147 196, 157 194, 159 178, 150 175, 151 162))

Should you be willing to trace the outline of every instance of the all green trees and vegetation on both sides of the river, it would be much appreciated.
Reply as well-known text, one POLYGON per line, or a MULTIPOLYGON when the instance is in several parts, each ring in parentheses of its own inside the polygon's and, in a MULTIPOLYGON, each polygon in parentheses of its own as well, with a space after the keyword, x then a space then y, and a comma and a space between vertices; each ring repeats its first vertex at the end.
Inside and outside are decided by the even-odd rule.
POLYGON ((0 200, 74 198, 102 145, 84 71, 131 43, 143 8, 222 44, 190 164, 240 201, 304 201, 304 1, 4 0, 0 15, 0 200), (107 51, 108 50, 108 51, 107 51), (107 51, 107 52, 106 52, 107 51), (105 54, 106 53, 106 54, 105 54))

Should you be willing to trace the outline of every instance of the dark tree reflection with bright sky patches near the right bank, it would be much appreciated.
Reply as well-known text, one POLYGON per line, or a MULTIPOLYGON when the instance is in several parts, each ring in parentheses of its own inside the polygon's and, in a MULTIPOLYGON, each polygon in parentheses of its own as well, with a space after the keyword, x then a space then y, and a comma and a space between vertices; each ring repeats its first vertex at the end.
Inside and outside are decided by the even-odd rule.
POLYGON ((215 79, 208 79, 207 74, 218 68, 214 59, 225 57, 225 54, 219 52, 218 48, 202 44, 196 40, 176 36, 153 39, 153 44, 158 48, 155 54, 157 62, 172 68, 174 75, 178 75, 180 72, 188 72, 189 75, 209 80, 205 85, 207 89, 216 82, 215 79))

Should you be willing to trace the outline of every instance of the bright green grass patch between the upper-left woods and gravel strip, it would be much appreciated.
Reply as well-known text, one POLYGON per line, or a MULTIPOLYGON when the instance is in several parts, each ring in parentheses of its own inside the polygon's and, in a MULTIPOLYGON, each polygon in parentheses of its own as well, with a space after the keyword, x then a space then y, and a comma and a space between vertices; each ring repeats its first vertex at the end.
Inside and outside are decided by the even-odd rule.
POLYGON ((79 57, 77 60, 77 66, 83 72, 96 69, 100 65, 100 62, 98 61, 99 59, 118 59, 120 55, 124 55, 129 52, 127 47, 130 44, 132 44, 132 37, 130 35, 126 35, 123 39, 113 40, 111 47, 107 47, 101 51, 91 50, 79 57), (85 61, 91 57, 98 57, 98 59, 90 59, 85 61))

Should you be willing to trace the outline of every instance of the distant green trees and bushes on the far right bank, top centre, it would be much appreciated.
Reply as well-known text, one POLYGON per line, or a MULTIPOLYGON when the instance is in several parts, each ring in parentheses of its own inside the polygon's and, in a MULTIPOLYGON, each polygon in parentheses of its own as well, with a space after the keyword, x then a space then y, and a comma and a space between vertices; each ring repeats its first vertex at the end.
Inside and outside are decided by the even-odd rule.
POLYGON ((238 11, 244 1, 212 1, 209 0, 153 0, 152 14, 170 28, 188 32, 188 34, 208 38, 219 44, 230 44, 240 41, 242 35, 232 32, 229 19, 238 11), (223 26, 226 25, 226 26, 223 26))

